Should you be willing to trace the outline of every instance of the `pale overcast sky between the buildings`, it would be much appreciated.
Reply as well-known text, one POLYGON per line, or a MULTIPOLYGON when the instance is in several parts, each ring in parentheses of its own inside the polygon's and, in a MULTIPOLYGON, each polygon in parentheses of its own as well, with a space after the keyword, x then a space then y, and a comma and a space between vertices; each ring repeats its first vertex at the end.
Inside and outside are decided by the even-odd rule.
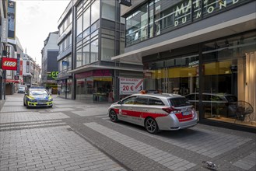
POLYGON ((58 31, 58 19, 70 0, 13 0, 16 2, 16 37, 41 66, 41 50, 48 34, 58 31))

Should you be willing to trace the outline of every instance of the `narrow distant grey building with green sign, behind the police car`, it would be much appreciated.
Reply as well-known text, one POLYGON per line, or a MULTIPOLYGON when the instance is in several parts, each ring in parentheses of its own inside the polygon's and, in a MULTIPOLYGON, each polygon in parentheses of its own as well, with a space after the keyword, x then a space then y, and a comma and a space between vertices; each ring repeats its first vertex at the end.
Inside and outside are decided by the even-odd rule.
POLYGON ((52 93, 58 93, 57 75, 58 75, 58 31, 49 33, 46 40, 44 40, 44 47, 42 54, 42 84, 46 89, 51 90, 52 93))

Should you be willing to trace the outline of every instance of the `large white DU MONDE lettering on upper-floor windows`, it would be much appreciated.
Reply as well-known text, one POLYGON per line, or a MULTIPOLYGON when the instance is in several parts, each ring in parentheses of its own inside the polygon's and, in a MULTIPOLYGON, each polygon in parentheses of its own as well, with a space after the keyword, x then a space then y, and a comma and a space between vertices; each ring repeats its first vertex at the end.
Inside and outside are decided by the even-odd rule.
POLYGON ((239 4, 245 0, 187 0, 179 5, 174 6, 174 26, 178 26, 187 23, 191 19, 191 13, 194 19, 200 19, 202 17, 202 11, 204 14, 212 14, 216 11, 221 11, 232 5, 239 4), (202 7, 203 6, 203 7, 202 7), (202 10, 202 8, 204 10, 202 10), (193 10, 193 11, 192 11, 193 10), (191 12, 192 11, 192 12, 191 12))

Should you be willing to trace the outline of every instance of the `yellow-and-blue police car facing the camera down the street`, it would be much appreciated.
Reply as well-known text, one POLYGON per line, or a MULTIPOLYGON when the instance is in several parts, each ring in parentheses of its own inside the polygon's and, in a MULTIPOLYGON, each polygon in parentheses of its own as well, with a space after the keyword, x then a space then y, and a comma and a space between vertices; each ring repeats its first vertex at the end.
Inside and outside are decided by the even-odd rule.
POLYGON ((51 94, 46 89, 27 89, 23 98, 23 105, 26 108, 31 106, 53 106, 51 94))

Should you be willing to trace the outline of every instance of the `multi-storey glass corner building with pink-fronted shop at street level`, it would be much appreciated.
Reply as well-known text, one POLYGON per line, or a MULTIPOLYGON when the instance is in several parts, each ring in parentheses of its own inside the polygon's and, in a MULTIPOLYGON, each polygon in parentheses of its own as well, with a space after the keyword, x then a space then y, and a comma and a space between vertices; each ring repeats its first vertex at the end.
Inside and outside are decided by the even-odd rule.
POLYGON ((142 64, 111 61, 124 53, 124 19, 117 1, 71 1, 59 23, 59 87, 72 99, 111 103, 123 96, 120 79, 142 80, 142 64))

